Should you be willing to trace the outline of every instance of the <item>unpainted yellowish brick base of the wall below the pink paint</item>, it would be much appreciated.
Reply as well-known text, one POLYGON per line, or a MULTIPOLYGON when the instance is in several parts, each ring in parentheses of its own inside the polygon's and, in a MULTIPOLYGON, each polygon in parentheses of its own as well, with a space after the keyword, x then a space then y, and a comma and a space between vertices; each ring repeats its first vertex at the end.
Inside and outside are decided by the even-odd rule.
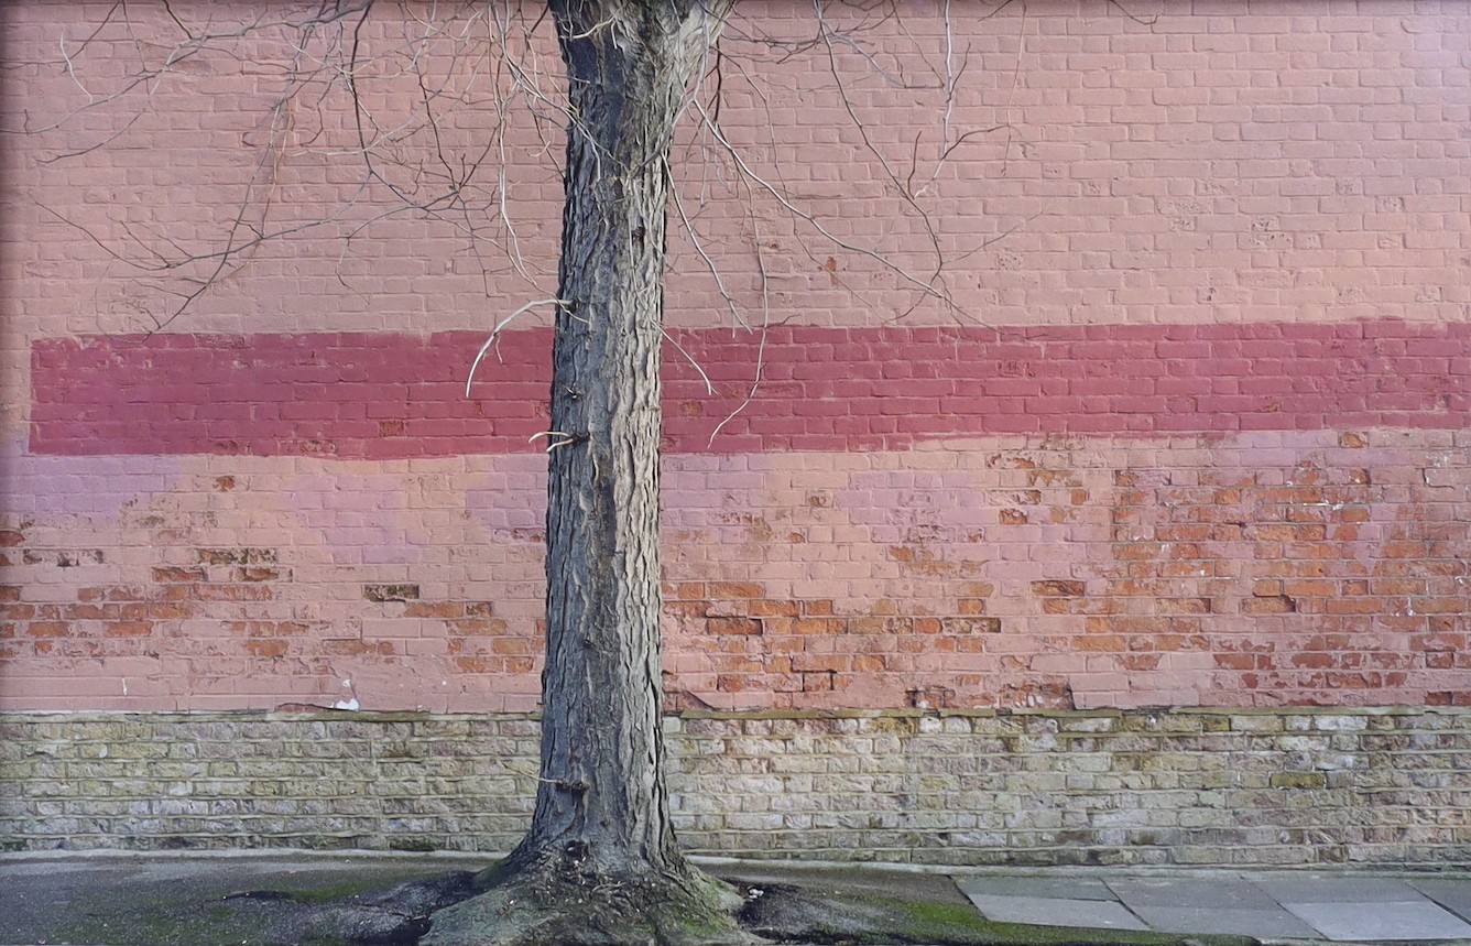
MULTIPOLYGON (((1467 711, 668 719, 681 839, 916 864, 1471 867, 1467 711)), ((9 850, 506 850, 531 716, 0 716, 9 850)))

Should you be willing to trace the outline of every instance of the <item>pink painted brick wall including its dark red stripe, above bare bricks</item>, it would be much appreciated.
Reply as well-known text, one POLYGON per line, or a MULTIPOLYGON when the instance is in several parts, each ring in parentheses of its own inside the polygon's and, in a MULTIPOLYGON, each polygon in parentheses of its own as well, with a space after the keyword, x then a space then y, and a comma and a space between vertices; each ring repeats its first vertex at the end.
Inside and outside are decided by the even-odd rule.
MULTIPOLYGON (((809 10, 743 0, 721 124, 952 305, 709 135, 677 154, 669 318, 716 393, 668 353, 672 702, 1471 702, 1465 6, 902 12, 831 10, 872 59, 830 63, 759 41, 809 10)), ((538 315, 460 387, 555 291, 555 132, 516 112, 505 219, 494 175, 478 216, 377 219, 340 90, 263 124, 279 37, 129 88, 119 25, 82 46, 104 16, 0 7, 0 127, 32 131, 0 150, 0 706, 534 706, 538 315), (143 340, 181 284, 109 249, 215 249, 247 188, 335 222, 143 340)), ((418 88, 378 62, 391 127, 418 88)))

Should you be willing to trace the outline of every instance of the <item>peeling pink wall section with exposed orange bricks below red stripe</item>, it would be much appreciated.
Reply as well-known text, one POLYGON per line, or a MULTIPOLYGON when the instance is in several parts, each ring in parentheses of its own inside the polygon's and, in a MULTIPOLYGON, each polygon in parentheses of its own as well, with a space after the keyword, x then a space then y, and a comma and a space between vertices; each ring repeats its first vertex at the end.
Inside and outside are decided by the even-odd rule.
MULTIPOLYGON (((672 456, 674 705, 1462 705, 1459 435, 672 456)), ((428 466, 237 472, 229 490, 181 478, 157 506, 241 490, 279 506, 204 506, 188 531, 121 511, 101 547, 21 524, 0 600, 6 699, 533 706, 538 460, 413 463, 428 466)), ((99 478, 93 500, 137 483, 99 478)))

